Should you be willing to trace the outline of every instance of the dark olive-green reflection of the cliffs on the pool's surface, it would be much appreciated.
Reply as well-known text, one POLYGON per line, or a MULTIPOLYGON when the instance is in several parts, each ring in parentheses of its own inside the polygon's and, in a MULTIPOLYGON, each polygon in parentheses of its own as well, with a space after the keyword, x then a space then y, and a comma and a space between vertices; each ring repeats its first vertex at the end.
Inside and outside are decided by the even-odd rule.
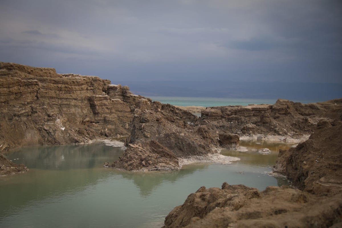
POLYGON ((120 148, 104 144, 27 147, 7 152, 8 159, 24 163, 30 170, 1 178, 0 195, 5 197, 0 203, 0 221, 39 202, 76 196, 100 182, 122 184, 120 179, 127 179, 141 196, 148 196, 163 182, 175 183, 209 165, 173 172, 127 172, 103 167, 104 161, 115 160, 121 154, 120 148))

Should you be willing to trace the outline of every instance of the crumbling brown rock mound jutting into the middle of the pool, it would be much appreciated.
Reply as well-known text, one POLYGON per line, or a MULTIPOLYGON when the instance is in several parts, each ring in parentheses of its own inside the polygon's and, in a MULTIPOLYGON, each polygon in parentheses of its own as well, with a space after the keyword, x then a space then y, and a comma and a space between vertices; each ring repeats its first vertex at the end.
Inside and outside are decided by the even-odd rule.
POLYGON ((133 112, 127 150, 112 167, 124 170, 178 170, 179 159, 205 156, 218 147, 197 117, 169 104, 139 99, 133 112))

